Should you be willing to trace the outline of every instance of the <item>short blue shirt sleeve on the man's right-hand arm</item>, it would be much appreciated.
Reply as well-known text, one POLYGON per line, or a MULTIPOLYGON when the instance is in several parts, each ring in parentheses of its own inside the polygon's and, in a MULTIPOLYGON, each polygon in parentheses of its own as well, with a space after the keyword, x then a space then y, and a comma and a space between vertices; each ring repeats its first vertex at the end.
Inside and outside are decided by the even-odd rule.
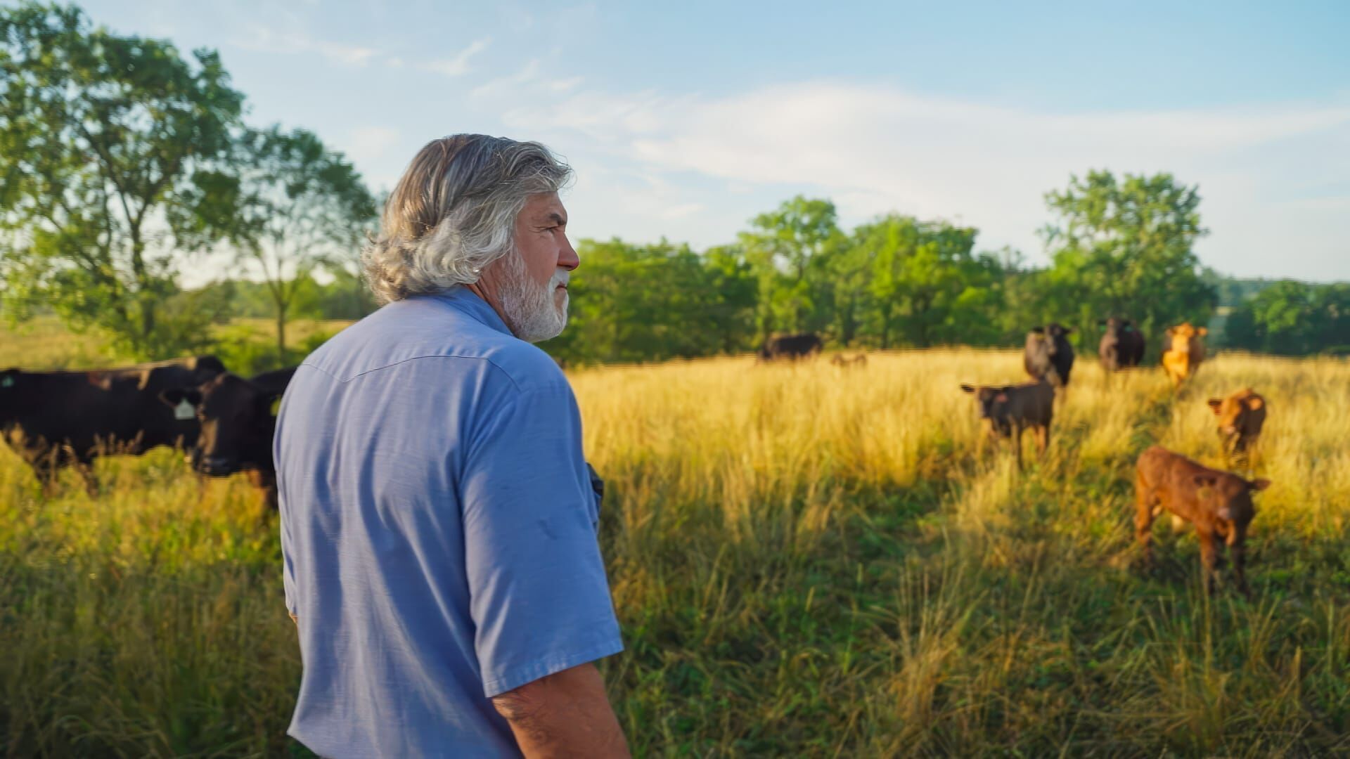
POLYGON ((460 488, 485 696, 622 651, 570 388, 518 390, 491 412, 460 488))

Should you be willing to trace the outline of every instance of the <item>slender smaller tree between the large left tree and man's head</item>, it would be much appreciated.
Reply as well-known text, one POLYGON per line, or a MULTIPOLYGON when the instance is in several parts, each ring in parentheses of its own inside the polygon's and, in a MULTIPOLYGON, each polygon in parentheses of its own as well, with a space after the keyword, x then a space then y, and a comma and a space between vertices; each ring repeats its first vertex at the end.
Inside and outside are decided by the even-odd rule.
POLYGON ((305 130, 250 131, 250 159, 232 236, 258 266, 277 320, 277 358, 286 363, 286 321, 320 267, 344 258, 375 219, 375 199, 340 153, 305 130))

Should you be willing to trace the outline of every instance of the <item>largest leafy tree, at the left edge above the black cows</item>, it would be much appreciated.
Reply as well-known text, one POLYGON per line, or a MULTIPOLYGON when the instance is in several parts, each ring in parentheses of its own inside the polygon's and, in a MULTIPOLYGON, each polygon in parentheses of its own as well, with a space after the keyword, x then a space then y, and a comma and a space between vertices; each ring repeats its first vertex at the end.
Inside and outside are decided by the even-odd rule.
POLYGON ((139 357, 204 344, 208 316, 169 304, 182 254, 232 217, 242 107, 213 51, 189 62, 74 7, 0 9, 5 312, 50 305, 139 357))

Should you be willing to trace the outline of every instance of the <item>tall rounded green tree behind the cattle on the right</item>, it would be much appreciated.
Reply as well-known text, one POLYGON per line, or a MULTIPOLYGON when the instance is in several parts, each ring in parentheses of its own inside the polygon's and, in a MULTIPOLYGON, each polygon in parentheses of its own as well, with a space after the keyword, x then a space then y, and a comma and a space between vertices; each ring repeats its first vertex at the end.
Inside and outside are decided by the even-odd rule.
POLYGON ((1146 335, 1210 321, 1216 293, 1192 250, 1207 232, 1197 188, 1170 174, 1089 172, 1045 200, 1057 220, 1044 228, 1053 265, 1034 321, 1072 325, 1084 342, 1107 316, 1129 316, 1146 335))

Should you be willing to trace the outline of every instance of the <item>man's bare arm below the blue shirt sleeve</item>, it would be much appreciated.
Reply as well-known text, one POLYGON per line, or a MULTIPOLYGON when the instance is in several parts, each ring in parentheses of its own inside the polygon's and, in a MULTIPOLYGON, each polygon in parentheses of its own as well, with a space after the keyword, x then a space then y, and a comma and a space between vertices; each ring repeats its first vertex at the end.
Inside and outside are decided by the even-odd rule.
POLYGON ((555 673, 493 698, 529 759, 626 758, 628 741, 595 664, 555 673))

